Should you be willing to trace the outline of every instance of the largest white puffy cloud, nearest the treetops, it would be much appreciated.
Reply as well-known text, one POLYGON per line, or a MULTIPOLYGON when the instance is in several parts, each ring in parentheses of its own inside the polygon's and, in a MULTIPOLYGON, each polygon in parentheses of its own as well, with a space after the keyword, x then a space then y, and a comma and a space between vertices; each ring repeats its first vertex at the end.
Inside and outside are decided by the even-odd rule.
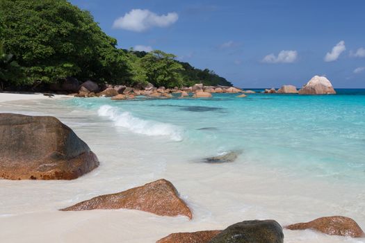
POLYGON ((143 32, 153 27, 168 27, 179 19, 176 12, 167 15, 157 15, 147 9, 132 9, 123 17, 115 19, 113 28, 122 28, 128 31, 143 32))

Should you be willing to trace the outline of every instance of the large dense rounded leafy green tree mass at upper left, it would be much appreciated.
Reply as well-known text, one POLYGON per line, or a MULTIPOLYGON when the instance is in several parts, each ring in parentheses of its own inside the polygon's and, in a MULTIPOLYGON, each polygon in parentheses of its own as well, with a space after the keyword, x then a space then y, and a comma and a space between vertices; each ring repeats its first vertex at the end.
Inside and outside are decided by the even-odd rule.
POLYGON ((90 12, 65 0, 1 0, 0 37, 22 67, 24 83, 54 83, 60 78, 117 82, 127 64, 90 12))

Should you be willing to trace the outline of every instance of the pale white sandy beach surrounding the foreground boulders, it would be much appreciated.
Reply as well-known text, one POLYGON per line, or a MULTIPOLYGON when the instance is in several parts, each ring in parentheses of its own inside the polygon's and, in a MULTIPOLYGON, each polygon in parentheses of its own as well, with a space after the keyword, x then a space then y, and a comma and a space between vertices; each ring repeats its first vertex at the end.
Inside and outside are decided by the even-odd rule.
MULTIPOLYGON (((1 99, 12 95, 0 93, 1 99)), ((200 163, 197 161, 204 157, 200 147, 131 133, 115 127, 113 121, 98 116, 95 110, 52 102, 42 94, 13 97, 15 102, 1 104, 1 110, 58 117, 95 151, 101 165, 73 181, 0 180, 1 242, 118 239, 153 243, 170 233, 223 229, 243 220, 275 219, 285 226, 330 215, 345 215, 365 225, 361 185, 298 178, 282 168, 273 170, 260 164, 248 151, 234 163, 200 163), (121 192, 159 178, 177 187, 193 210, 192 220, 137 210, 58 211, 93 196, 121 192)), ((284 235, 286 243, 363 242, 314 231, 284 230, 284 235)))

